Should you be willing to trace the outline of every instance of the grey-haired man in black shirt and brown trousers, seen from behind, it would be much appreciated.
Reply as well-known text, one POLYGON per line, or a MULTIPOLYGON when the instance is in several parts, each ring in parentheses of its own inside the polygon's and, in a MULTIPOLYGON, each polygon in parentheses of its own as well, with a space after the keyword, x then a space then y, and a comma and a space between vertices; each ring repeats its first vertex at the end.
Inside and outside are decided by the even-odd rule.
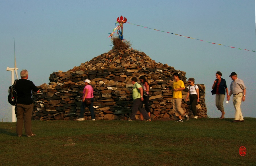
POLYGON ((15 89, 17 92, 17 122, 16 133, 18 137, 22 137, 22 128, 24 121, 24 128, 27 137, 36 136, 32 133, 31 129, 31 117, 33 112, 33 100, 31 90, 39 92, 39 88, 34 85, 32 81, 28 80, 28 70, 22 70, 20 72, 21 79, 16 81, 15 89))

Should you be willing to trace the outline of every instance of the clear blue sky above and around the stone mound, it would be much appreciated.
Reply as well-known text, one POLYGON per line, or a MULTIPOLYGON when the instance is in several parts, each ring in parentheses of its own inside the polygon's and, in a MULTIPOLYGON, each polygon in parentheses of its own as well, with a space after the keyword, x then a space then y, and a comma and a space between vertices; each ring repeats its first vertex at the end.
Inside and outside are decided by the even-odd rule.
MULTIPOLYGON (((49 83, 53 71, 63 72, 108 52, 108 33, 117 17, 130 23, 177 33, 217 44, 124 24, 124 38, 134 49, 156 62, 185 71, 196 83, 206 85, 208 116, 220 117, 211 87, 216 70, 222 72, 228 87, 236 72, 247 87, 242 103, 244 117, 255 111, 255 1, 254 0, 174 0, 174 1, 0 1, 0 120, 11 122, 7 90, 14 67, 14 44, 18 73, 29 72, 29 80, 39 86, 49 83)), ((20 78, 20 76, 19 76, 20 78)), ((232 101, 224 105, 227 118, 234 117, 232 101)))

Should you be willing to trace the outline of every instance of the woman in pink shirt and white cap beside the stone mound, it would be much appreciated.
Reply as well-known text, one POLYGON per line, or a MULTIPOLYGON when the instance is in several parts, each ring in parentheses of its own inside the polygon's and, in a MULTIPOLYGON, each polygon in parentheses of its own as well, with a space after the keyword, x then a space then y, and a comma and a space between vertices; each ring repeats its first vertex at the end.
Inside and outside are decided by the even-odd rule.
POLYGON ((95 120, 95 117, 94 117, 94 110, 93 110, 93 102, 94 102, 94 96, 93 96, 93 88, 92 86, 90 85, 90 80, 86 79, 84 81, 84 90, 83 90, 83 102, 82 102, 82 105, 81 105, 81 112, 80 112, 80 118, 78 118, 77 120, 84 120, 84 109, 85 107, 88 106, 90 112, 91 112, 91 116, 92 116, 92 120, 95 120), (90 104, 86 104, 86 99, 90 99, 91 100, 91 103, 90 104))

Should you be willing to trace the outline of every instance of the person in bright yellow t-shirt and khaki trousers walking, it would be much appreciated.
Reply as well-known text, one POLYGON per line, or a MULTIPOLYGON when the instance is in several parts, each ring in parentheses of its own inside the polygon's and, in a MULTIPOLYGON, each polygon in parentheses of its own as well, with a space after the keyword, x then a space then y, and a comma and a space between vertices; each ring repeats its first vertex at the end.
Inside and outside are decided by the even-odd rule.
POLYGON ((185 117, 186 120, 189 120, 188 115, 181 108, 182 103, 182 90, 185 89, 185 85, 182 80, 179 79, 179 74, 174 73, 174 83, 173 83, 173 93, 172 93, 172 106, 176 117, 179 117, 179 120, 176 122, 183 122, 181 115, 185 117))

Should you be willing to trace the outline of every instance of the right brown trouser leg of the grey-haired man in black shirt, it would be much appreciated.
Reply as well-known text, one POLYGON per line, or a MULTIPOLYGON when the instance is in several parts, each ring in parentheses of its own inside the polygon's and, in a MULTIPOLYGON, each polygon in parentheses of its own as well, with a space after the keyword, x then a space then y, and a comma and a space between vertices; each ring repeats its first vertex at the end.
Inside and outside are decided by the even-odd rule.
POLYGON ((24 128, 26 135, 32 134, 32 123, 31 123, 31 117, 33 112, 34 104, 25 105, 23 104, 24 108, 24 128))

